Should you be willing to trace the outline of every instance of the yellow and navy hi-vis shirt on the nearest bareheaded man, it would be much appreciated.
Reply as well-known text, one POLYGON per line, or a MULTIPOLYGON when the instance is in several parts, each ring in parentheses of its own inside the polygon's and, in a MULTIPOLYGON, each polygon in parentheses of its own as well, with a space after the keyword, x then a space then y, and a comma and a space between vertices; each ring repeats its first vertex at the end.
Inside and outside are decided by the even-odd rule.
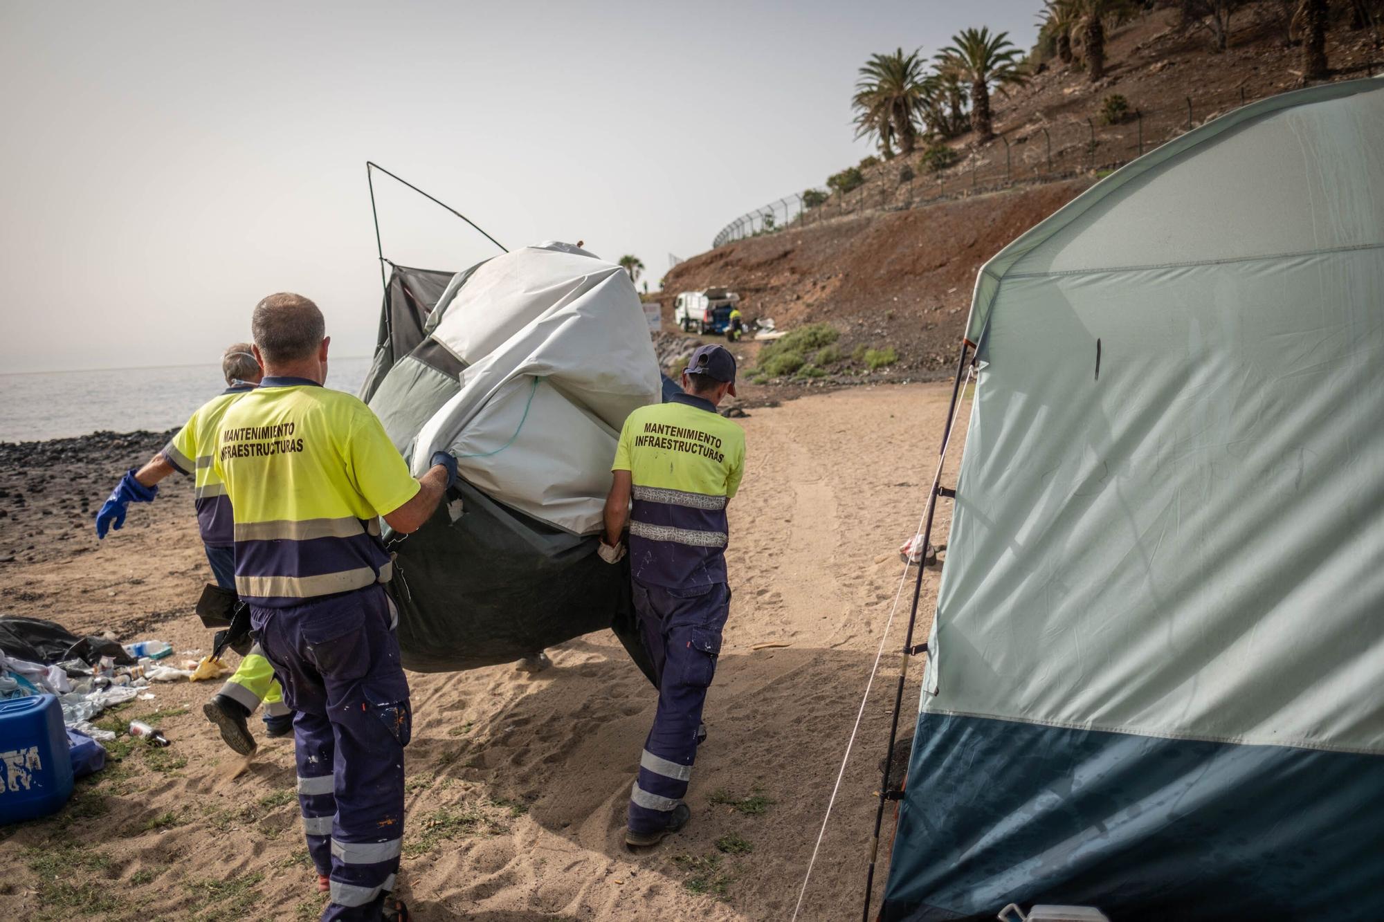
POLYGON ((388 583, 379 516, 418 482, 364 403, 264 378, 221 418, 216 473, 235 511, 235 591, 285 608, 388 583))

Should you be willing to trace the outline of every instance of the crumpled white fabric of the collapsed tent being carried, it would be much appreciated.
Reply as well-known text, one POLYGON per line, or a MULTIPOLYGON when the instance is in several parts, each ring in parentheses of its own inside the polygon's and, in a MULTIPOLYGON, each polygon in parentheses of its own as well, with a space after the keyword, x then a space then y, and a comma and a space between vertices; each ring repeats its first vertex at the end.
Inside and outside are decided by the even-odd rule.
POLYGON ((430 336, 465 364, 461 390, 422 426, 493 498, 574 534, 599 529, 624 418, 660 399, 659 364, 628 273, 567 244, 527 246, 461 273, 430 336))

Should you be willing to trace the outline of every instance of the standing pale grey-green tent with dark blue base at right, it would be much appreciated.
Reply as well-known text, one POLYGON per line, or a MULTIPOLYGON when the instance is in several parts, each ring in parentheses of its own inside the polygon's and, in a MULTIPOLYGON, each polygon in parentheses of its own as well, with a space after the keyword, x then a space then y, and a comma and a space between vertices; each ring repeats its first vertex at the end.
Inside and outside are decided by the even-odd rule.
POLYGON ((886 919, 1384 912, 1384 82, 991 259, 886 919))

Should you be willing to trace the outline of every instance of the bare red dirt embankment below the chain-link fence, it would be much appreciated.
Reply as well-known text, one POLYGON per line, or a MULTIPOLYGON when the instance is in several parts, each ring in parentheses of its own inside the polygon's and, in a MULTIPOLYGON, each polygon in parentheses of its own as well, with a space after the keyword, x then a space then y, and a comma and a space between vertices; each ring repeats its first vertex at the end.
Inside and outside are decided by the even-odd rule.
POLYGON ((668 271, 666 328, 677 292, 727 285, 740 293, 746 317, 772 317, 779 329, 829 321, 846 353, 859 343, 893 346, 900 361, 872 379, 944 375, 976 271, 1092 181, 1017 187, 728 244, 668 271))

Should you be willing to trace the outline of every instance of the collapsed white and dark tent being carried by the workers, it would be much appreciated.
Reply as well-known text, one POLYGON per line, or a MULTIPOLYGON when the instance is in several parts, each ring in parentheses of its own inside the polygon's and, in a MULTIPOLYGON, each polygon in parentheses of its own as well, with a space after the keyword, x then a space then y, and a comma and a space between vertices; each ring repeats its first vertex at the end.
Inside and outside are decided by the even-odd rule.
POLYGON ((361 395, 415 473, 437 450, 461 473, 390 540, 404 665, 512 662, 603 627, 642 665, 628 565, 595 554, 620 426, 662 393, 628 273, 549 242, 444 275, 394 267, 361 395))

